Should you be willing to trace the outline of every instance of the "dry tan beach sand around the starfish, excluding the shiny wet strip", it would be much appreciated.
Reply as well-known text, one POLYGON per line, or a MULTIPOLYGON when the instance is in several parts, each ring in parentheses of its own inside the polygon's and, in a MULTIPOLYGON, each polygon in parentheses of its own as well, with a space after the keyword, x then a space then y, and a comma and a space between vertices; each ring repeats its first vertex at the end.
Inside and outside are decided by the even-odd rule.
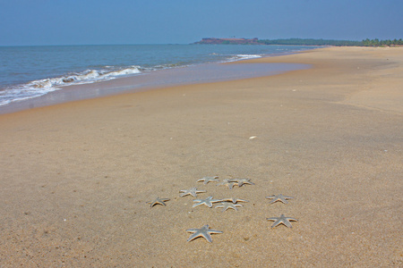
POLYGON ((254 62, 313 68, 0 115, 0 266, 402 267, 403 48, 254 62), (196 186, 250 202, 193 208, 196 186))

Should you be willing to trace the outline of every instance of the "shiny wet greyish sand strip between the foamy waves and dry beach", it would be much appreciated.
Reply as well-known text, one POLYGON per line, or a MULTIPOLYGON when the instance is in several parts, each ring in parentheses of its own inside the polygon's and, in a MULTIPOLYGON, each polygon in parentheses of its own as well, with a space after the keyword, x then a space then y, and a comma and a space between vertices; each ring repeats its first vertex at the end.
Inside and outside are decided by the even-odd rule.
POLYGON ((57 105, 83 99, 139 92, 152 88, 167 88, 186 84, 241 80, 275 75, 286 71, 308 69, 308 64, 293 63, 205 63, 183 68, 151 71, 141 75, 99 81, 91 84, 65 86, 21 101, 0 106, 0 114, 15 113, 35 107, 57 105))

